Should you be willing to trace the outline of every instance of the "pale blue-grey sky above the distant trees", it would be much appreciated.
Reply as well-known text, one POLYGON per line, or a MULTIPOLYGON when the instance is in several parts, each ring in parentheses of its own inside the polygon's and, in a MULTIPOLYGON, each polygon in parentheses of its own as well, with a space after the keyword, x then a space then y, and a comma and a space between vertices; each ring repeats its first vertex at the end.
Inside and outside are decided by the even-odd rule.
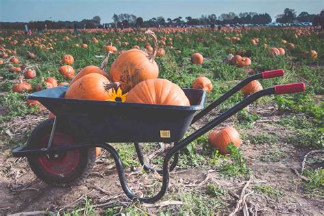
POLYGON ((148 20, 228 12, 267 12, 274 20, 284 8, 295 9, 297 15, 303 11, 319 14, 324 0, 0 0, 0 21, 81 21, 98 15, 101 23, 110 23, 113 14, 121 13, 148 20))

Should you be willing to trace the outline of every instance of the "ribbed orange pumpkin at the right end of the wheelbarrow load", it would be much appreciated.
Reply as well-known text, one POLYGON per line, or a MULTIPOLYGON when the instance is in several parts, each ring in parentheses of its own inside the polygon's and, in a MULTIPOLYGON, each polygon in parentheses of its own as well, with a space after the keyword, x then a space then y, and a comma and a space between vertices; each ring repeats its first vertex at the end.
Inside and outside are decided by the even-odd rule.
POLYGON ((133 87, 126 102, 190 106, 185 92, 167 79, 147 79, 133 87))

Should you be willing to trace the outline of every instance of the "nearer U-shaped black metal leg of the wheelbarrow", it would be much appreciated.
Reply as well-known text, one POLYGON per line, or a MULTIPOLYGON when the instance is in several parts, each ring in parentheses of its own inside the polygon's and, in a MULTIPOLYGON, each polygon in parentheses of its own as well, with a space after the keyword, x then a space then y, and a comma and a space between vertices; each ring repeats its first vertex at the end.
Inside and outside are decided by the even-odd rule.
POLYGON ((146 203, 154 203, 154 202, 161 200, 161 198, 167 191, 167 187, 169 186, 169 173, 170 173, 169 172, 169 170, 170 170, 169 162, 170 162, 170 159, 174 156, 174 154, 176 154, 176 152, 178 152, 178 150, 180 150, 180 148, 178 148, 177 146, 174 146, 172 149, 170 149, 167 152, 167 155, 165 156, 165 159, 163 162, 162 187, 161 187, 161 190, 159 191, 159 193, 157 193, 157 195, 154 195, 154 197, 152 197, 152 198, 139 198, 137 195, 135 195, 133 193, 133 191, 131 191, 131 189, 127 185, 124 167, 122 166, 122 161, 121 161, 120 156, 119 156, 118 152, 116 151, 116 149, 113 148, 113 146, 110 146, 109 144, 96 144, 96 147, 105 148, 105 150, 107 150, 113 157, 113 159, 116 163, 116 168, 117 168, 117 172, 118 172, 118 177, 120 179, 120 184, 122 185, 122 190, 124 191, 124 193, 131 200, 139 200, 141 202, 146 202, 146 203))

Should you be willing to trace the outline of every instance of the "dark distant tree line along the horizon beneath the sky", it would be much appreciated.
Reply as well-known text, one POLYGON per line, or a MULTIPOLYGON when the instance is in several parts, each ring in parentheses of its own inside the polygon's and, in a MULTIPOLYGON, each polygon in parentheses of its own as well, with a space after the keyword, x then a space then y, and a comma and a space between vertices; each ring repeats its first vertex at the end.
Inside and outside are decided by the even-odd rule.
MULTIPOLYGON (((278 23, 291 22, 312 22, 316 14, 309 14, 308 12, 301 12, 298 16, 295 10, 286 8, 283 14, 276 16, 278 23)), ((1 29, 23 29, 27 24, 29 28, 44 29, 65 29, 73 28, 75 25, 79 28, 86 27, 88 29, 94 28, 123 28, 123 27, 166 27, 166 26, 185 26, 185 25, 227 25, 227 24, 267 24, 271 23, 272 18, 269 14, 258 14, 256 12, 243 12, 235 14, 234 12, 224 13, 218 17, 215 14, 202 15, 200 18, 192 18, 186 16, 185 18, 178 16, 176 18, 164 18, 163 16, 153 17, 146 21, 143 18, 137 17, 134 14, 113 14, 111 17, 112 23, 100 23, 100 16, 94 16, 92 19, 83 19, 82 21, 31 21, 29 23, 10 23, 0 22, 1 29)))

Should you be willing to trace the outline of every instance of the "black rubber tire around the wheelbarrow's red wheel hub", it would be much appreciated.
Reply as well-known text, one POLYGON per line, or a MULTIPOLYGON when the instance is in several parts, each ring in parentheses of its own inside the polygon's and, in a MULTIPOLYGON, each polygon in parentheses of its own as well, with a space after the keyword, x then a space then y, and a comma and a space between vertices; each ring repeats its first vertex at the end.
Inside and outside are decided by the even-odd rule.
MULTIPOLYGON (((36 126, 27 141, 28 149, 39 148, 39 142, 42 140, 42 137, 51 134, 53 122, 54 118, 50 118, 48 120, 44 120, 38 124, 38 126, 36 126)), ((60 130, 59 126, 56 127, 55 132, 56 131, 66 134, 66 131, 63 129, 60 130)), ((77 185, 79 182, 87 178, 92 170, 92 167, 94 167, 94 162, 96 160, 96 148, 85 148, 79 151, 79 163, 74 170, 64 176, 55 175, 46 171, 38 161, 39 156, 29 156, 27 157, 27 160, 31 170, 33 170, 33 173, 45 183, 55 187, 69 187, 71 185, 77 185)))

